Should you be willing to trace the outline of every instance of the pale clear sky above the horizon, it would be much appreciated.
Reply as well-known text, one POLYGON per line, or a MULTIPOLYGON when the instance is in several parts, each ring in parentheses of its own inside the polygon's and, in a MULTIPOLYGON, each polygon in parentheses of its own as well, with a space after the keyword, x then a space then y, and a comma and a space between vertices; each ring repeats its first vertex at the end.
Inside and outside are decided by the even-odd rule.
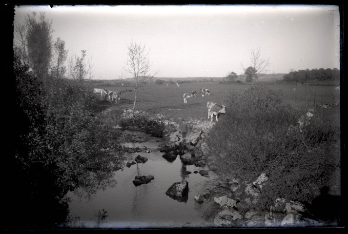
POLYGON ((268 74, 340 68, 335 5, 19 5, 15 21, 33 11, 52 21, 69 58, 87 50, 94 79, 132 77, 132 40, 149 50, 158 78, 241 75, 257 50, 268 74))

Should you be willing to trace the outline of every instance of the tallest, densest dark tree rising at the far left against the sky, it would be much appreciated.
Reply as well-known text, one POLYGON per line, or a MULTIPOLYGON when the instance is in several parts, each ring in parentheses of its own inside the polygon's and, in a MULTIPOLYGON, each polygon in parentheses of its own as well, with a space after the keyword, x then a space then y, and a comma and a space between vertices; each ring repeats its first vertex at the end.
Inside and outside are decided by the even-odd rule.
POLYGON ((30 67, 34 73, 40 77, 46 77, 52 54, 52 22, 45 18, 45 14, 40 14, 40 19, 36 19, 36 13, 27 15, 27 48, 30 67))

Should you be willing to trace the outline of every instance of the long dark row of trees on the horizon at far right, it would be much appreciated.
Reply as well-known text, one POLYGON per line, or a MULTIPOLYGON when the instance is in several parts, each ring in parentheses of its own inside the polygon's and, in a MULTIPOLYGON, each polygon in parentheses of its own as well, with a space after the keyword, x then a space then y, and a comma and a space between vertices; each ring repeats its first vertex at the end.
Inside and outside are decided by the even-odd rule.
POLYGON ((285 81, 290 82, 300 82, 307 83, 312 81, 321 81, 321 80, 339 80, 340 79, 340 70, 337 68, 334 69, 306 69, 290 72, 283 76, 285 81))

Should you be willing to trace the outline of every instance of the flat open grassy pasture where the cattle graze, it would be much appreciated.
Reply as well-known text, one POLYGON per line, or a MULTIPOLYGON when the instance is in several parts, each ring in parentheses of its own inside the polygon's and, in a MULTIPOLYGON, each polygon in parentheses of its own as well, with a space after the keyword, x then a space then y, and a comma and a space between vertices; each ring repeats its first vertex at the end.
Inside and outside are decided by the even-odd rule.
MULTIPOLYGON (((212 101, 226 104, 230 92, 243 93, 251 84, 219 84, 217 82, 184 83, 178 87, 169 84, 148 83, 138 92, 136 110, 146 110, 150 114, 161 114, 166 119, 173 121, 179 118, 207 119, 206 103, 212 101), (200 88, 210 90, 210 96, 202 97, 200 88), (183 94, 191 94, 197 90, 197 97, 188 98, 184 103, 183 94)), ((283 101, 295 109, 305 110, 319 107, 323 104, 340 102, 340 92, 334 90, 332 85, 305 85, 305 84, 267 84, 269 89, 281 90, 283 101)), ((105 88, 96 86, 95 88, 105 88)), ((132 108, 135 92, 127 86, 108 86, 111 91, 121 91, 121 101, 114 104, 120 108, 132 108)), ((106 105, 106 104, 105 104, 106 105)), ((339 124, 340 105, 329 109, 318 108, 326 120, 339 124)))

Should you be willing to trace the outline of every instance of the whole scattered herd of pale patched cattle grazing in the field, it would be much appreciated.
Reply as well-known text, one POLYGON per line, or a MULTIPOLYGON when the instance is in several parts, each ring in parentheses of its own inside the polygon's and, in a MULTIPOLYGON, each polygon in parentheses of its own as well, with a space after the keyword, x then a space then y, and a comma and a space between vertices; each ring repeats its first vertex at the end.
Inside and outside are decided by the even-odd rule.
MULTIPOLYGON (((121 91, 110 91, 107 89, 93 89, 93 94, 96 95, 101 95, 103 100, 108 100, 111 103, 113 101, 115 101, 115 103, 117 103, 117 101, 121 100, 121 91)), ((209 96, 210 95, 210 91, 208 89, 203 89, 201 88, 201 96, 204 97, 205 96, 209 96)), ((191 95, 189 94, 184 94, 184 103, 187 103, 187 98, 191 98, 191 97, 197 97, 197 91, 193 90, 191 95)), ((219 114, 225 114, 226 110, 225 110, 225 106, 224 105, 219 105, 215 102, 211 102, 208 101, 206 103, 206 107, 208 108, 208 119, 211 118, 211 121, 213 121, 213 117, 216 117, 216 121, 218 121, 218 115, 219 114)))

